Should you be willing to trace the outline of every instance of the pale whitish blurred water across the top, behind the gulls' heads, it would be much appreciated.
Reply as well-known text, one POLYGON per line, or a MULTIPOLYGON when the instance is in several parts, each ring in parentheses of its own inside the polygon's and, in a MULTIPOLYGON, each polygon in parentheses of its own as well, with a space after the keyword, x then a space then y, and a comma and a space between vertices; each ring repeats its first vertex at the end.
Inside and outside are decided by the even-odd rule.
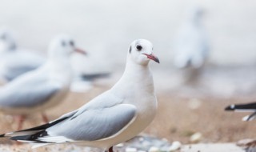
POLYGON ((80 46, 123 63, 135 38, 154 43, 162 63, 172 59, 171 42, 198 3, 206 11, 204 25, 210 36, 214 63, 251 63, 256 60, 256 2, 239 0, 1 0, 0 25, 10 26, 21 46, 46 50, 55 34, 72 34, 80 46), (116 58, 114 58, 116 57, 116 58))

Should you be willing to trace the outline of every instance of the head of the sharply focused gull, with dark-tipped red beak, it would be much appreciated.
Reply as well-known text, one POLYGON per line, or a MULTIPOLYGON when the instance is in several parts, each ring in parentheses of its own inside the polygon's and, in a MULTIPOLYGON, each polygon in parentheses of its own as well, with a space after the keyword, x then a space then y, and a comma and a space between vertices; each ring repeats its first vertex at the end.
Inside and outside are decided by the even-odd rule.
POLYGON ((130 44, 129 58, 141 65, 147 65, 150 60, 159 63, 158 57, 153 54, 153 45, 146 39, 138 39, 130 44))

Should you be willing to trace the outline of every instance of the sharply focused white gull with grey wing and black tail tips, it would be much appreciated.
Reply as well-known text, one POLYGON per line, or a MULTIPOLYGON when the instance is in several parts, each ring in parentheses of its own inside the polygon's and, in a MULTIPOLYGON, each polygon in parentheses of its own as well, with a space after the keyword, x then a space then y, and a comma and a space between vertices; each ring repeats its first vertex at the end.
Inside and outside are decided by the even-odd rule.
POLYGON ((158 58, 145 39, 130 44, 122 78, 103 94, 62 117, 27 130, 2 134, 19 142, 46 146, 75 143, 113 151, 113 146, 134 138, 152 122, 157 98, 149 62, 158 58))

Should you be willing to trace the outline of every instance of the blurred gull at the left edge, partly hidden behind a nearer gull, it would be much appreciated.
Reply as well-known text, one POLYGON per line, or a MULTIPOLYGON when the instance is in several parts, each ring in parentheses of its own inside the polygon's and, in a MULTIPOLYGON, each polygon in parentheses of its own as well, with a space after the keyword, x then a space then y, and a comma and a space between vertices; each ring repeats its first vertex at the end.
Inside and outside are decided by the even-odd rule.
POLYGON ((10 30, 0 30, 0 77, 10 82, 21 74, 35 70, 46 62, 46 58, 32 51, 18 48, 10 30))

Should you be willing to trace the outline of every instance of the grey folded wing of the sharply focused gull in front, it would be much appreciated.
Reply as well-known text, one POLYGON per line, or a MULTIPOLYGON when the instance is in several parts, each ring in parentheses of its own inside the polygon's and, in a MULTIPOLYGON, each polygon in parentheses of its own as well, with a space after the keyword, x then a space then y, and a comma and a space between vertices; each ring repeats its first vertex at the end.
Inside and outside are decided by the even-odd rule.
MULTIPOLYGON (((48 128, 46 132, 50 137, 65 137, 74 141, 100 140, 117 134, 128 126, 130 122, 133 122, 136 114, 137 108, 129 104, 86 110, 76 117, 69 118, 48 128)), ((42 141, 47 142, 47 137, 42 138, 42 141)))

